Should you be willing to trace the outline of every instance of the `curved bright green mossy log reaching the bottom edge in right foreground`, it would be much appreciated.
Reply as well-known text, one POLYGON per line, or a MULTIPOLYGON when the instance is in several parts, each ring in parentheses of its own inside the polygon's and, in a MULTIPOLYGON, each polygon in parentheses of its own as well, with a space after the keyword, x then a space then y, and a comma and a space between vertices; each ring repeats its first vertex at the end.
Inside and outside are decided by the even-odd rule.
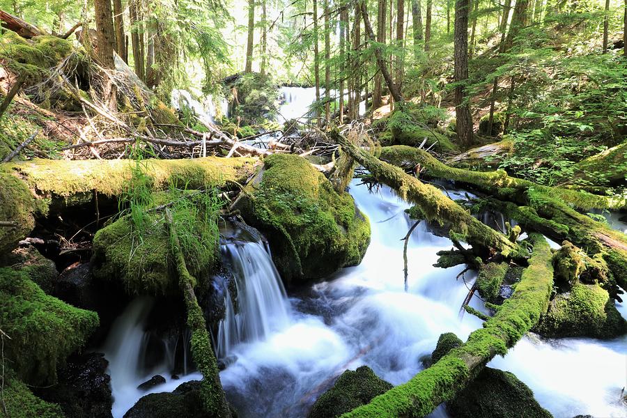
POLYGON ((504 355, 528 332, 548 307, 553 283, 551 251, 541 235, 532 234, 533 252, 511 298, 483 328, 460 347, 409 382, 377 396, 343 417, 424 417, 453 399, 495 357, 504 355))

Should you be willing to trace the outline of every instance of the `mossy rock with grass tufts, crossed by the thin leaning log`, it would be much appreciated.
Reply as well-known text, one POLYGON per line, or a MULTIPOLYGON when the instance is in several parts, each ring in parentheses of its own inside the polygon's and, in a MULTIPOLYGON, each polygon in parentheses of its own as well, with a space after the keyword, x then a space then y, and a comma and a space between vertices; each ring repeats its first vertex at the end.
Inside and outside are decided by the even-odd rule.
MULTIPOLYGON (((158 195, 155 206, 170 199, 168 194, 158 195)), ((171 212, 179 235, 183 229, 191 234, 185 240, 181 238, 187 269, 197 280, 203 280, 219 261, 217 223, 201 211, 194 215, 185 208, 172 207, 171 212)), ((140 232, 126 215, 95 234, 94 277, 102 281, 121 281, 129 295, 178 295, 178 276, 162 212, 151 212, 145 224, 146 228, 140 232)))

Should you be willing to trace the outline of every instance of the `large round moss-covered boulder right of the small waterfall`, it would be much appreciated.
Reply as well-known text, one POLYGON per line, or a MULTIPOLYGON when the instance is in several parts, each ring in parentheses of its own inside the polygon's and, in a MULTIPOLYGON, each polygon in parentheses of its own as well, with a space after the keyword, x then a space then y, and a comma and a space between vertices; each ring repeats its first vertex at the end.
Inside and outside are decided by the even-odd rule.
POLYGON ((297 155, 270 155, 233 208, 265 233, 287 282, 321 279, 362 261, 368 219, 353 197, 297 155))

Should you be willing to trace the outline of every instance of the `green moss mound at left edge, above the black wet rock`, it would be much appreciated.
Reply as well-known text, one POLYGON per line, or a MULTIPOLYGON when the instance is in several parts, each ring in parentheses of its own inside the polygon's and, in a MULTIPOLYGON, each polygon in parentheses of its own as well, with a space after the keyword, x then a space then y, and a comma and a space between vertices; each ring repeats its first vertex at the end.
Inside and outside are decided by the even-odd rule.
POLYGON ((46 295, 25 272, 0 268, 0 323, 10 336, 5 355, 31 385, 56 382, 65 358, 82 348, 98 315, 46 295))

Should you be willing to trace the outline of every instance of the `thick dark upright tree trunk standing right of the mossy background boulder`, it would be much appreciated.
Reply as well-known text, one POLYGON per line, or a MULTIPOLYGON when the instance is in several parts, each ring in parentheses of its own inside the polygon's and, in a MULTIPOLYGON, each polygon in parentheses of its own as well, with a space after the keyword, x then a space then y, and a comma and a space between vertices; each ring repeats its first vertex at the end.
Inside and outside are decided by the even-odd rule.
POLYGON ((461 146, 472 144, 472 116, 465 94, 468 79, 468 12, 469 0, 456 0, 454 33, 455 116, 458 141, 461 146))

